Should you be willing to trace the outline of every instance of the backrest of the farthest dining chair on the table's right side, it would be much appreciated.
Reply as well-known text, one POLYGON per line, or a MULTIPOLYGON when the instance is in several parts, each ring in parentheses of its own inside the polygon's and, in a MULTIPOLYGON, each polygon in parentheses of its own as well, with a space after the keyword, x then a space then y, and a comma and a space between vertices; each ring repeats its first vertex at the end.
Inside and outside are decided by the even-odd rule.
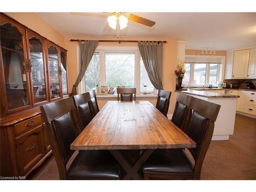
POLYGON ((167 116, 169 104, 170 104, 170 95, 172 92, 159 90, 157 97, 156 108, 164 115, 167 116))

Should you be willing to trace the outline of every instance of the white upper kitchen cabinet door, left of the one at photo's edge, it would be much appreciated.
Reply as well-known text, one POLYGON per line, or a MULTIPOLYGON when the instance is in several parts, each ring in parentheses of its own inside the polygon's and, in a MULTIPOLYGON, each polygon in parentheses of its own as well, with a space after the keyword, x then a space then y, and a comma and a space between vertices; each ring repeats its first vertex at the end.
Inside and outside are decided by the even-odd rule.
POLYGON ((234 51, 232 78, 247 78, 250 50, 234 51))

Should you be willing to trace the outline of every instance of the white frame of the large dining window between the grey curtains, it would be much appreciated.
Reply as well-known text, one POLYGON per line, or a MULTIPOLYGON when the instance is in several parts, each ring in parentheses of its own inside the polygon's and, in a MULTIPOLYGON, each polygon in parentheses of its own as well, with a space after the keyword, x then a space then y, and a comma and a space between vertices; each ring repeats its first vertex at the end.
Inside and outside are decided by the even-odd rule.
MULTIPOLYGON (((144 91, 140 91, 140 51, 138 47, 119 47, 119 46, 98 46, 94 53, 99 54, 99 86, 105 85, 106 74, 105 74, 105 53, 133 53, 135 54, 135 88, 138 94, 143 94, 144 91)), ((77 58, 79 58, 79 46, 77 46, 77 58)), ((80 60, 78 62, 78 71, 80 70, 80 60)), ((85 75, 78 85, 78 93, 86 92, 85 75)), ((157 89, 154 87, 154 92, 148 92, 150 94, 157 94, 157 89)))

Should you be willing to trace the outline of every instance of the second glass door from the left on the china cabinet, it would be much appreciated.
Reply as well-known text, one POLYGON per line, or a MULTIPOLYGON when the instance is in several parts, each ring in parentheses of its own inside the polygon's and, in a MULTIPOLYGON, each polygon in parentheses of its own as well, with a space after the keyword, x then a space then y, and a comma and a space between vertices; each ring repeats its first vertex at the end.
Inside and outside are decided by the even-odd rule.
MULTIPOLYGON (((30 32, 28 33, 30 34, 30 32)), ((35 36, 29 38, 29 69, 31 73, 33 100, 35 104, 47 100, 43 43, 43 39, 39 40, 39 38, 35 36)))

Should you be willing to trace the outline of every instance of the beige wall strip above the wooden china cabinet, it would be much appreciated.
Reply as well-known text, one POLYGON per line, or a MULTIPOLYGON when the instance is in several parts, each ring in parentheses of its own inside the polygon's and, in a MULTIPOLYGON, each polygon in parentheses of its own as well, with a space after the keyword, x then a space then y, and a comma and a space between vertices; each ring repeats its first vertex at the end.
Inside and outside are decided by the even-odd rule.
POLYGON ((40 35, 46 37, 47 39, 53 41, 58 46, 64 48, 64 36, 53 29, 49 24, 47 24, 43 19, 38 17, 35 13, 5 13, 6 15, 17 20, 17 22, 25 25, 26 27, 34 30, 40 35))

